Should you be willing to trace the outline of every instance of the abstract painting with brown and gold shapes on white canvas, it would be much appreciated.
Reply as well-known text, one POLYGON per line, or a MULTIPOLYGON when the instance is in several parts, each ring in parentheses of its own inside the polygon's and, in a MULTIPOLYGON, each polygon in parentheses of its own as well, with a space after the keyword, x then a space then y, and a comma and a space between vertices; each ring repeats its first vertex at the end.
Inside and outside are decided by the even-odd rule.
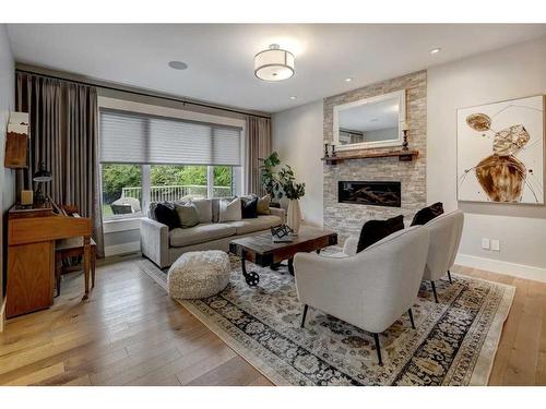
POLYGON ((544 204, 544 96, 458 109, 458 200, 544 204))

